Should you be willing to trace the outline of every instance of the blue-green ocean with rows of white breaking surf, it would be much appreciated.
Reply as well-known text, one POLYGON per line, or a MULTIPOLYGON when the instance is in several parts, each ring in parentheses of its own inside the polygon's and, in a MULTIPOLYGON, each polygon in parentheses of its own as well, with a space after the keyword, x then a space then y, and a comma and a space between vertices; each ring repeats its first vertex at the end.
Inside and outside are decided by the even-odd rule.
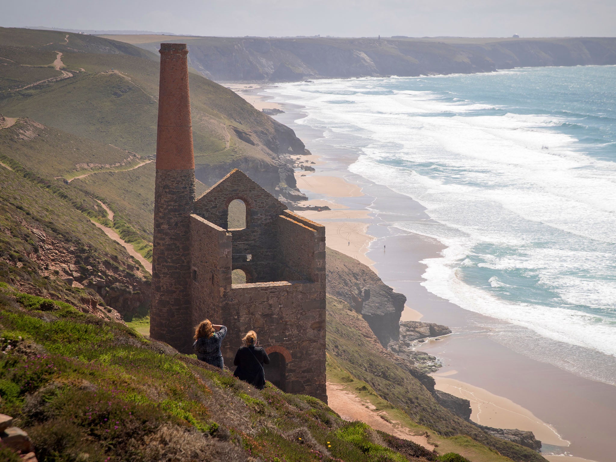
POLYGON ((393 225, 446 246, 424 261, 431 293, 616 356, 616 67, 328 79, 266 94, 356 152, 349 171, 426 208, 431 219, 393 225))

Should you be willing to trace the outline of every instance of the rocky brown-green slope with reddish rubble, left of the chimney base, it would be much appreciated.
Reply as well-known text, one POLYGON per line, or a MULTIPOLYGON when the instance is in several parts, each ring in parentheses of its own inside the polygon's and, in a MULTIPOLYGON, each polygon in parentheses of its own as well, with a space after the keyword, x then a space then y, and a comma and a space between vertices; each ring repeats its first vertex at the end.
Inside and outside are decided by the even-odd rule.
POLYGON ((147 303, 149 275, 92 224, 106 215, 94 199, 0 162, 0 281, 102 317, 112 312, 105 301, 124 312, 147 303), (108 289, 98 293, 97 281, 108 289))

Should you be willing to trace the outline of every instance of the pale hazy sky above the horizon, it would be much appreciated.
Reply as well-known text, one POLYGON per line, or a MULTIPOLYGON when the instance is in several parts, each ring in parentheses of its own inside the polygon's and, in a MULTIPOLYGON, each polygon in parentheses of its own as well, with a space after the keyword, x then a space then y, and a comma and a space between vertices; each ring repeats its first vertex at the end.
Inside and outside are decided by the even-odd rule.
POLYGON ((616 36, 616 0, 0 0, 0 26, 214 36, 616 36))

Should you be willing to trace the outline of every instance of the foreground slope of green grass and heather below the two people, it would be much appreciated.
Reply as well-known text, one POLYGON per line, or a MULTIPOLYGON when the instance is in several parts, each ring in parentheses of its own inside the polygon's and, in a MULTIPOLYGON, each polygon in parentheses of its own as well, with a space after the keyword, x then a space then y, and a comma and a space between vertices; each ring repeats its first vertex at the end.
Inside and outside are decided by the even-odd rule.
POLYGON ((0 308, 0 412, 41 462, 464 461, 343 421, 312 397, 257 391, 67 304, 2 284, 0 308))

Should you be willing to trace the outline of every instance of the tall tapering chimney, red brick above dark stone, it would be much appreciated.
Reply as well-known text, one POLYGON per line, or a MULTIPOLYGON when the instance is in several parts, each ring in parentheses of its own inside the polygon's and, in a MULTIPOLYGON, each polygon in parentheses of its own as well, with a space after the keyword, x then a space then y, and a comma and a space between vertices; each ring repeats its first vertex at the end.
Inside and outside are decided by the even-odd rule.
POLYGON ((150 336, 190 352, 190 225, 195 203, 188 49, 161 43, 150 336))

